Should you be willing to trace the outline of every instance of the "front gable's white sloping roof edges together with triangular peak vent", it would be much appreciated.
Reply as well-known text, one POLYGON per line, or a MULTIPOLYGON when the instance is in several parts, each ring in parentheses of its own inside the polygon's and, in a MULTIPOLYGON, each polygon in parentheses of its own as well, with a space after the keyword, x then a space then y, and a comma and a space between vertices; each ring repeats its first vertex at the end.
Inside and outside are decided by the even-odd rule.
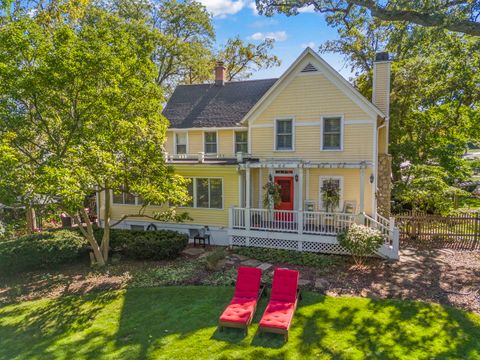
POLYGON ((271 98, 274 97, 274 93, 285 86, 289 79, 292 79, 292 74, 296 71, 299 73, 313 72, 313 69, 320 70, 326 78, 328 78, 333 84, 335 84, 345 95, 347 95, 353 102, 360 106, 366 113, 372 116, 380 116, 385 118, 386 115, 377 108, 370 100, 365 98, 355 87, 350 84, 345 78, 340 75, 334 68, 332 68, 320 55, 318 55, 311 48, 307 47, 300 56, 293 62, 292 65, 283 73, 283 75, 275 82, 275 84, 268 89, 261 99, 245 114, 241 123, 245 124, 250 118, 254 118, 254 115, 261 111, 262 105, 266 104, 271 98), (310 57, 310 60, 306 61, 306 58, 310 57), (312 58, 313 57, 313 58, 312 58), (307 69, 307 71, 305 71, 307 69))

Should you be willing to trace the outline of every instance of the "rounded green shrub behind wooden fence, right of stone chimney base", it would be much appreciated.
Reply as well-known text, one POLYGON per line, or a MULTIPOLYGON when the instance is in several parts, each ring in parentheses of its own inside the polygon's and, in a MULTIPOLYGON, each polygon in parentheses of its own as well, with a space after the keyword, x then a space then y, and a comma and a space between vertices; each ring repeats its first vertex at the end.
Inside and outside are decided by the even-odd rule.
POLYGON ((413 165, 404 171, 403 179, 395 184, 395 198, 421 212, 448 214, 454 207, 455 196, 468 195, 450 186, 448 174, 439 166, 413 165))

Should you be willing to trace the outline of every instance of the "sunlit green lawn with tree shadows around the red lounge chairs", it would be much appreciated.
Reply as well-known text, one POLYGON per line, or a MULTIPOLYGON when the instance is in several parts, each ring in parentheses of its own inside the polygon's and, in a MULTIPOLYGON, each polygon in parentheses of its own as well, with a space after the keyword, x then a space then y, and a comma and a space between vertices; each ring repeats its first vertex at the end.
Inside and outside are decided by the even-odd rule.
POLYGON ((0 358, 480 359, 480 316, 453 308, 305 293, 284 344, 255 324, 247 337, 217 332, 232 293, 143 288, 0 307, 0 358))

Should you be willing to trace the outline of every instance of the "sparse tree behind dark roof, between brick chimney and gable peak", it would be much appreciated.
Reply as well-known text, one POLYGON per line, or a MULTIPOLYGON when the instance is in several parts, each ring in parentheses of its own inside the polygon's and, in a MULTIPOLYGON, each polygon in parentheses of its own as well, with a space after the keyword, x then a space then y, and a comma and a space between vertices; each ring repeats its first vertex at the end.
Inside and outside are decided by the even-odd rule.
POLYGON ((240 37, 229 39, 216 58, 225 65, 228 81, 248 79, 254 71, 280 65, 280 59, 270 55, 275 40, 265 39, 254 45, 245 44, 240 37))

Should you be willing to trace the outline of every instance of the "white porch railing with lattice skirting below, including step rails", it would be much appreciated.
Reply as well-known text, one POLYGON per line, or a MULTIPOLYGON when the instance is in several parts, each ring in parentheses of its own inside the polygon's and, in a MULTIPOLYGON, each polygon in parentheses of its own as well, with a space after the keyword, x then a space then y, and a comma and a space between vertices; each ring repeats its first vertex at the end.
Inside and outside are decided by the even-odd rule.
POLYGON ((256 246, 331 254, 348 254, 337 234, 359 223, 378 229, 385 242, 378 255, 398 259, 399 232, 393 219, 365 213, 236 208, 229 210, 230 246, 256 246))

